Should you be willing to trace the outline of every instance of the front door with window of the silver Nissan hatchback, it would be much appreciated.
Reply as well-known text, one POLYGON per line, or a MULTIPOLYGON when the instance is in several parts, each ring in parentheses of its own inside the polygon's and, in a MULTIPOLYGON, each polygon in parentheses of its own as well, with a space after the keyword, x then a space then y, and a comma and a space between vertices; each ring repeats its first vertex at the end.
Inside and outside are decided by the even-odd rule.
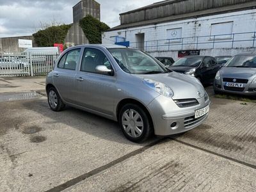
POLYGON ((76 74, 77 104, 107 115, 113 115, 113 96, 116 94, 115 74, 99 74, 98 65, 113 70, 107 54, 100 49, 85 48, 81 67, 76 74))

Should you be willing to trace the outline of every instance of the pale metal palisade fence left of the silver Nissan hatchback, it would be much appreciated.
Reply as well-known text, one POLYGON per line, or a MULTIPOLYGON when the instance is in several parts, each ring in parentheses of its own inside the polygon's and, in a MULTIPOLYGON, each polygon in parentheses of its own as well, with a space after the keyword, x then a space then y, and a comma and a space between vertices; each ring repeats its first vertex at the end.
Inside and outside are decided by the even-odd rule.
POLYGON ((42 76, 52 71, 56 52, 0 55, 0 76, 42 76))

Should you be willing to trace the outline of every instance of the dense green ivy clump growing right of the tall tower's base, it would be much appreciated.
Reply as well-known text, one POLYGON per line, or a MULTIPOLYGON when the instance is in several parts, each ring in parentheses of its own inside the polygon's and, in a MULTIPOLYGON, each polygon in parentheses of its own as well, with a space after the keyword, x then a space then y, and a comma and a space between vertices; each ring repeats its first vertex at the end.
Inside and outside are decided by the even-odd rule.
POLYGON ((87 15, 81 19, 79 24, 90 44, 101 44, 101 34, 110 29, 107 24, 100 22, 92 17, 92 15, 87 15))

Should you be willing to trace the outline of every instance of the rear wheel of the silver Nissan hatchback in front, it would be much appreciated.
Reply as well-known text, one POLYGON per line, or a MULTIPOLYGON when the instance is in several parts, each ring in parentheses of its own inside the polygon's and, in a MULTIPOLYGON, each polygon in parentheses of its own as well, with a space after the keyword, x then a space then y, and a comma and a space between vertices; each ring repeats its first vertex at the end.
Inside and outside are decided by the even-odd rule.
POLYGON ((65 107, 56 88, 49 88, 47 92, 48 104, 52 111, 61 111, 65 107))

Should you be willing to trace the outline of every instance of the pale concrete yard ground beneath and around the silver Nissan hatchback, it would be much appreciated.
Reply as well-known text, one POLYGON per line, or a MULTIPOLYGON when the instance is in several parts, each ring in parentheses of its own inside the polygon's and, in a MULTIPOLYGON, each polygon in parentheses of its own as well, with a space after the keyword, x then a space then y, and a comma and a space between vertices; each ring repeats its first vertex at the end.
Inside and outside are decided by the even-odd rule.
MULTIPOLYGON (((43 78, 15 78, 0 85, 44 89, 43 78)), ((0 191, 256 191, 256 103, 211 96, 200 127, 136 144, 111 120, 0 90, 0 191)))

